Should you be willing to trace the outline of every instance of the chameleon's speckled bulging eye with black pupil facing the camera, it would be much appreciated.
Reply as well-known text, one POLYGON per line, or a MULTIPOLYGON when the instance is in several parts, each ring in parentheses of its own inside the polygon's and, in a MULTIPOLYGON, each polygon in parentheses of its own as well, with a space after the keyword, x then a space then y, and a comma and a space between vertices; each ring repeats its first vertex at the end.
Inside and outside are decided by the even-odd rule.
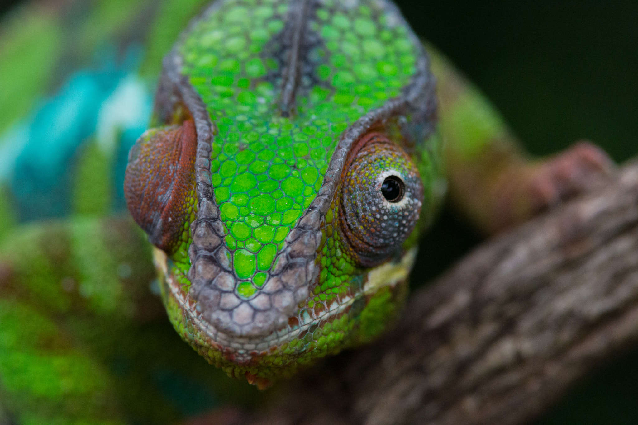
POLYGON ((339 223, 346 245, 364 267, 386 261, 419 220, 423 185, 412 159, 382 133, 369 133, 346 161, 339 223))

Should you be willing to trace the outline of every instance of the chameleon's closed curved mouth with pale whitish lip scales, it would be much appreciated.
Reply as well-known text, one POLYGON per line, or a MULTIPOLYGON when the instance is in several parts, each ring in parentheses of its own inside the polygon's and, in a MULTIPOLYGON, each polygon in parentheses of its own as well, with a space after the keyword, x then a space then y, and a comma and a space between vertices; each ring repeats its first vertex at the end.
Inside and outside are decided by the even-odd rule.
MULTIPOLYGON (((399 261, 389 261, 367 273, 365 283, 360 292, 346 294, 338 299, 325 303, 323 308, 299 308, 295 315, 288 318, 285 326, 274 329, 265 335, 239 336, 226 333, 207 321, 204 314, 197 309, 197 301, 189 297, 187 291, 177 282, 168 266, 166 254, 157 248, 153 249, 153 259, 161 278, 162 298, 169 307, 177 303, 182 312, 182 324, 190 329, 189 340, 204 349, 216 349, 233 363, 246 364, 256 357, 266 355, 273 347, 280 347, 286 342, 302 339, 306 333, 312 333, 326 322, 340 317, 352 308, 359 299, 372 296, 382 287, 394 287, 406 282, 417 255, 417 247, 406 251, 399 261)), ((170 308, 168 308, 170 311, 170 308)), ((303 352, 300 347, 299 351, 303 352)))

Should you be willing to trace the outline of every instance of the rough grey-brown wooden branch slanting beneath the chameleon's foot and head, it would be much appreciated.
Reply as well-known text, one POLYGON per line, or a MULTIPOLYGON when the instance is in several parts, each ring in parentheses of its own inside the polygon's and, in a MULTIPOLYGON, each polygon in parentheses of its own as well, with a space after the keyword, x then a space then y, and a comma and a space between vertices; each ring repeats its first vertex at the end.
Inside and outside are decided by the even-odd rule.
POLYGON ((488 241, 250 423, 521 424, 638 342, 638 162, 488 241))

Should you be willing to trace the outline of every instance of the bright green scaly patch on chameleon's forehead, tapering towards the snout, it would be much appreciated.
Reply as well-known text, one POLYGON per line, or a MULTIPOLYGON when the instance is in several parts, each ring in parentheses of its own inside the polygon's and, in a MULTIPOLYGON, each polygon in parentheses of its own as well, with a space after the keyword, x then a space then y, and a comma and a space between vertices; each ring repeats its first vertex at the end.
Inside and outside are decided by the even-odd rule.
POLYGON ((408 29, 378 3, 346 8, 325 0, 308 23, 323 40, 308 56, 317 83, 298 89, 295 110, 284 118, 281 64, 265 52, 283 31, 287 11, 281 1, 219 3, 181 50, 182 71, 218 129, 214 197, 235 275, 244 281, 237 292, 245 298, 263 285, 287 234, 315 199, 341 133, 400 94, 419 54, 408 29))

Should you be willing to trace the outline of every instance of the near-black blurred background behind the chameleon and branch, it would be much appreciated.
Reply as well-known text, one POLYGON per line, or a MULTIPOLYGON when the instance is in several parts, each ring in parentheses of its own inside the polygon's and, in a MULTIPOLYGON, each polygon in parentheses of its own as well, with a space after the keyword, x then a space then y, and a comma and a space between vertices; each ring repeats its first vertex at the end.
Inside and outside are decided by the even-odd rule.
MULTIPOLYGON (((0 15, 17 3, 0 0, 0 15)), ((397 3, 417 34, 487 94, 533 154, 582 138, 616 161, 638 153, 638 2, 397 3)), ((413 282, 438 275, 479 241, 444 212, 421 245, 413 282)), ((537 425, 637 423, 634 352, 574 387, 537 425)))

